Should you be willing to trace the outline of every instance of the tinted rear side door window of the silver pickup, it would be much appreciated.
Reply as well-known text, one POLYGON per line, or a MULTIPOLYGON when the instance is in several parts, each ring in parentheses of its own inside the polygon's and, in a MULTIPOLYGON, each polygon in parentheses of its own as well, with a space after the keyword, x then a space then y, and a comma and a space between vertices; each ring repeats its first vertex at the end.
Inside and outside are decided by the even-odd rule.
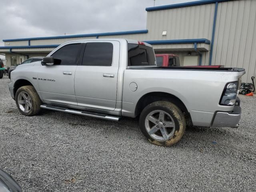
POLYGON ((82 65, 111 66, 113 44, 109 42, 86 43, 82 65))

